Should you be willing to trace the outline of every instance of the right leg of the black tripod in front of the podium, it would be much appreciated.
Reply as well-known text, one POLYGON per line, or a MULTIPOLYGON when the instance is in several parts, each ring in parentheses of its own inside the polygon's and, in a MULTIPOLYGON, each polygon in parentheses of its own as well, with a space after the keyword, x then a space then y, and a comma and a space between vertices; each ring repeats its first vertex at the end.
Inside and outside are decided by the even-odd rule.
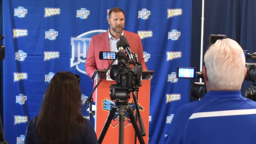
POLYGON ((133 126, 133 128, 134 128, 134 130, 136 132, 136 135, 137 135, 137 137, 138 137, 138 139, 140 141, 140 144, 145 144, 145 141, 144 141, 144 139, 143 139, 143 137, 141 135, 140 128, 139 128, 139 126, 138 126, 138 124, 136 122, 135 116, 133 115, 132 107, 129 106, 126 110, 127 110, 127 113, 128 113, 128 115, 130 117, 130 120, 132 121, 132 126, 133 126))

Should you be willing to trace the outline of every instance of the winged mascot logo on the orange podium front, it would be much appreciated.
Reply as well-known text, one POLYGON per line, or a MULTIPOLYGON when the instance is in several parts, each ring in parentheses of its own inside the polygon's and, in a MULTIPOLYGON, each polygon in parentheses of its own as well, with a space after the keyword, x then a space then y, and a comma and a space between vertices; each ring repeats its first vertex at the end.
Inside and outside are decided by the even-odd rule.
MULTIPOLYGON (((133 109, 133 113, 135 112, 135 104, 134 104, 134 100, 131 99, 131 101, 128 102, 129 105, 132 107, 133 109)), ((111 107, 114 106, 115 103, 108 99, 108 98, 105 98, 105 100, 102 100, 102 109, 105 110, 105 111, 110 111, 111 107)), ((144 107, 142 107, 140 104, 138 104, 138 107, 139 107, 139 110, 141 111, 144 111, 144 107)), ((118 116, 118 113, 116 112, 115 113, 115 116, 114 118, 112 119, 111 121, 111 126, 113 128, 115 128, 117 125, 119 125, 119 120, 118 120, 119 116, 118 116)), ((125 113, 125 117, 124 117, 124 127, 126 127, 128 124, 131 124, 131 120, 127 114, 127 112, 125 113)))

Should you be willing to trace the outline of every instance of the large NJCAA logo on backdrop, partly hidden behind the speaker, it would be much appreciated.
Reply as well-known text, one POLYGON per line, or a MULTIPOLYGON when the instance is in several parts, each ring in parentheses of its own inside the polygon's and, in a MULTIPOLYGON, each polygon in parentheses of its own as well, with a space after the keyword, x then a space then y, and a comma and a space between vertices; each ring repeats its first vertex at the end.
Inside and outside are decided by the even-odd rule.
POLYGON ((103 32, 106 32, 106 30, 91 30, 77 37, 71 37, 72 54, 70 58, 70 67, 76 66, 76 69, 79 72, 87 74, 84 66, 92 36, 103 32))

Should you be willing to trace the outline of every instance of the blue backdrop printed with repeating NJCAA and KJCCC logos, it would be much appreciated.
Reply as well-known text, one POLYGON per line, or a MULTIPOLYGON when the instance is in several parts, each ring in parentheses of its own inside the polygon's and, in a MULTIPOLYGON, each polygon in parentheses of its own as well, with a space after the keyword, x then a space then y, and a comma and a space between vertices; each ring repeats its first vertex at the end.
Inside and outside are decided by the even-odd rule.
MULTIPOLYGON (((80 75, 81 99, 90 95, 93 83, 84 69, 89 42, 110 27, 106 18, 113 7, 124 10, 124 29, 140 35, 148 70, 155 71, 149 143, 163 143, 174 112, 189 102, 190 82, 177 79, 176 68, 190 66, 191 0, 3 0, 3 119, 9 143, 23 142, 58 71, 80 75)), ((89 115, 86 108, 82 114, 89 115)))

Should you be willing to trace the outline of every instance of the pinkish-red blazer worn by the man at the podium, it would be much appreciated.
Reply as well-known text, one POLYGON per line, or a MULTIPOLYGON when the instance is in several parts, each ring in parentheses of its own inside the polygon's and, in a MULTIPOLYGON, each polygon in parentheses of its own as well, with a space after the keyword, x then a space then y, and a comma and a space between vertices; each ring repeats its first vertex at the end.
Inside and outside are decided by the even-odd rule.
MULTIPOLYGON (((140 36, 126 30, 124 30, 124 36, 128 39, 131 51, 138 55, 142 70, 147 70, 140 36)), ((85 64, 86 73, 90 77, 92 77, 96 69, 106 69, 112 62, 112 60, 100 60, 100 51, 110 51, 108 31, 92 37, 85 64)), ((131 67, 133 68, 133 65, 131 67)))

